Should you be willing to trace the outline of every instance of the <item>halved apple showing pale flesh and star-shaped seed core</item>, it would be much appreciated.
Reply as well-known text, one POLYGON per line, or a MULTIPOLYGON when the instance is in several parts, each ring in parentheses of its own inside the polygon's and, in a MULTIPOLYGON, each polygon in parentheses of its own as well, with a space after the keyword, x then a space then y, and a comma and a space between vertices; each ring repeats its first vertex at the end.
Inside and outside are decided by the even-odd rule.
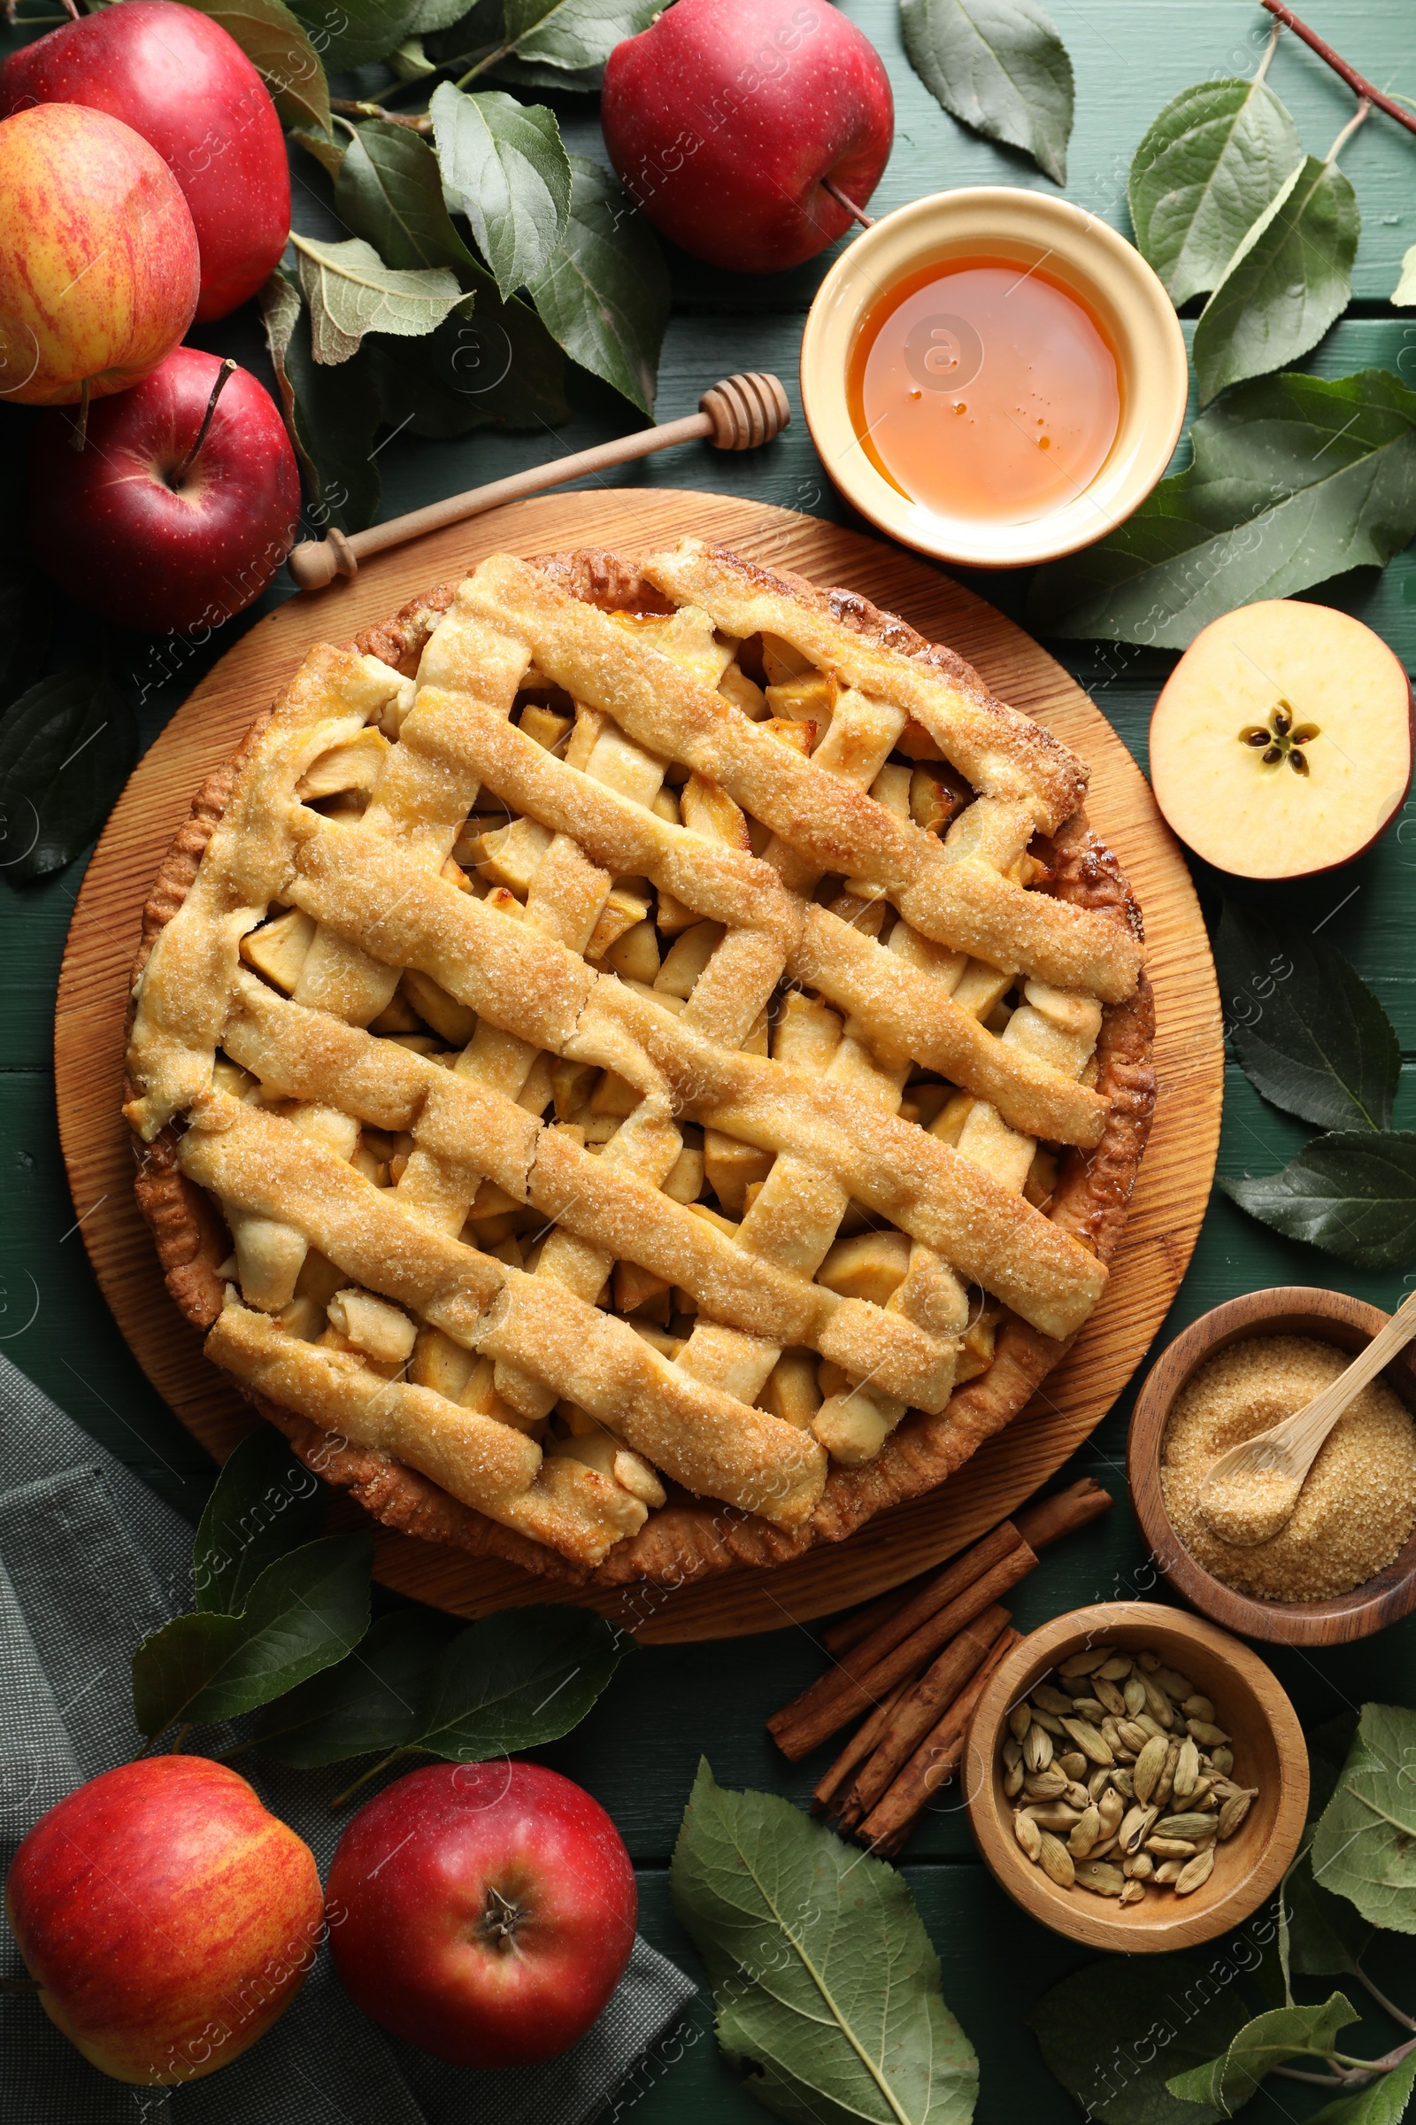
POLYGON ((1267 597, 1195 635, 1151 716, 1151 784, 1180 839, 1236 878, 1350 863, 1412 780, 1412 684, 1361 620, 1267 597))

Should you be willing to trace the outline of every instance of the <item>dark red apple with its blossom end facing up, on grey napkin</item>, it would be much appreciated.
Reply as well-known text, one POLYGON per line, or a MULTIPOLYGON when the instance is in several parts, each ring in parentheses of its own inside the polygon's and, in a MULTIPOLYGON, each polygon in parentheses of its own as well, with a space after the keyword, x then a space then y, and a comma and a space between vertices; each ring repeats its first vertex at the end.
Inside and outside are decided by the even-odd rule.
POLYGON ((352 1819, 329 1868, 355 2002, 454 2066, 586 2034, 635 1944, 635 1870, 597 1800, 539 1764, 433 1764, 352 1819))

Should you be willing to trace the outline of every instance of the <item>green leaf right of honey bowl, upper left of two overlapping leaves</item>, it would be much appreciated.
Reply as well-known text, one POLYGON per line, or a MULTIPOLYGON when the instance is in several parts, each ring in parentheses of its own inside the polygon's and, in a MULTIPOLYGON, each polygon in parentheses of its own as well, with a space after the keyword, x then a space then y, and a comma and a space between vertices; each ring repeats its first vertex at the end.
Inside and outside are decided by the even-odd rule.
POLYGON ((1132 159, 1136 249, 1180 308, 1208 295, 1244 236, 1301 168, 1297 128, 1263 81, 1197 81, 1132 159))

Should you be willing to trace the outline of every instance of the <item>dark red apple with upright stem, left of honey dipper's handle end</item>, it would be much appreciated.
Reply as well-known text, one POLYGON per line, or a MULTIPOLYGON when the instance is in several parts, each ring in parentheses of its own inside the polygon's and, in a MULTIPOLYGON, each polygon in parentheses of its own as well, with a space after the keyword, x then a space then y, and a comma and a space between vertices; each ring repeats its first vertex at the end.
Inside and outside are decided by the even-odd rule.
POLYGON ((34 559, 123 627, 217 627, 265 589, 291 548, 295 453, 270 393, 246 370, 227 370, 185 468, 221 374, 217 355, 178 346, 132 391, 91 410, 83 450, 70 448, 66 414, 34 423, 34 559))

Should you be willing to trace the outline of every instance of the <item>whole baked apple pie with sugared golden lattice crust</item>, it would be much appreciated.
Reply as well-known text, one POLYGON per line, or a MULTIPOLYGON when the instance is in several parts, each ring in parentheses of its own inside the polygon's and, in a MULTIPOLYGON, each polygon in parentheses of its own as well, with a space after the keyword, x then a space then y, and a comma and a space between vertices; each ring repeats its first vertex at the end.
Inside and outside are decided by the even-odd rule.
POLYGON ((1098 1303, 1151 1120, 1085 780, 696 540, 314 648, 138 954, 138 1198, 208 1356, 386 1524, 552 1577, 932 1488, 1098 1303))

